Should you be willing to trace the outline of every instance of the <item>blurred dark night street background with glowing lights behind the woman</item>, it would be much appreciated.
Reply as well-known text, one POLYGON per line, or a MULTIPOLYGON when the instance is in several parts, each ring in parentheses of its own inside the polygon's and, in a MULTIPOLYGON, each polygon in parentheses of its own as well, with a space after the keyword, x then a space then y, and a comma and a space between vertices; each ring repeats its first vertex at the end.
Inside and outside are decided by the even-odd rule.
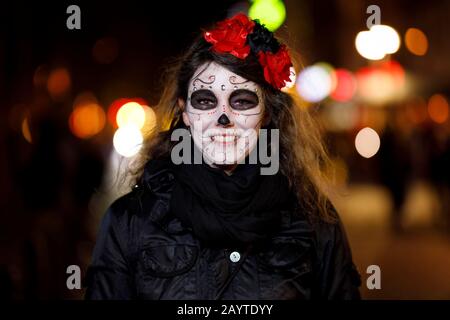
POLYGON ((324 128, 363 298, 450 299, 445 0, 2 3, 0 299, 82 298, 66 268, 86 271, 105 209, 129 190, 117 172, 155 125, 161 73, 240 11, 300 58, 293 90, 324 128))

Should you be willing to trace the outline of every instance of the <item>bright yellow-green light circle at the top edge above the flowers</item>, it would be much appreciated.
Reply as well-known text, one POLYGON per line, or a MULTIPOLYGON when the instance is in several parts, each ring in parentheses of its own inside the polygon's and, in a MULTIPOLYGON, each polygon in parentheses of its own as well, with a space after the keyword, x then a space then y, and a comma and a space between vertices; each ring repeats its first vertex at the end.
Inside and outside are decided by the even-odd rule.
POLYGON ((286 19, 286 8, 281 0, 254 0, 248 15, 258 19, 270 31, 275 31, 286 19))

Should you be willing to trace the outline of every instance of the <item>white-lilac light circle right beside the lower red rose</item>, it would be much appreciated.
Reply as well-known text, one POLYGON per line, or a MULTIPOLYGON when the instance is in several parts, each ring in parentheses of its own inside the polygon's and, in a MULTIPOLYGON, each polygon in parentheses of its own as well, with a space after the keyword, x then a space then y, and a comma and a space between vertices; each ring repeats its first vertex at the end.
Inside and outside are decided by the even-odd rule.
POLYGON ((303 69, 297 77, 299 95, 308 102, 319 102, 333 90, 335 81, 332 68, 327 64, 315 64, 303 69))

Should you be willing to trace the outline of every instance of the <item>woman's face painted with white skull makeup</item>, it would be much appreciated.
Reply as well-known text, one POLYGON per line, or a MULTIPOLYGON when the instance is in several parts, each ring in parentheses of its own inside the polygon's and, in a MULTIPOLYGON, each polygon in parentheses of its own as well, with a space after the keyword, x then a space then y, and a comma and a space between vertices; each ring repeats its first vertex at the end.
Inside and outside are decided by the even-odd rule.
POLYGON ((188 88, 183 121, 209 165, 242 161, 256 146, 263 116, 260 87, 209 62, 200 66, 188 88))

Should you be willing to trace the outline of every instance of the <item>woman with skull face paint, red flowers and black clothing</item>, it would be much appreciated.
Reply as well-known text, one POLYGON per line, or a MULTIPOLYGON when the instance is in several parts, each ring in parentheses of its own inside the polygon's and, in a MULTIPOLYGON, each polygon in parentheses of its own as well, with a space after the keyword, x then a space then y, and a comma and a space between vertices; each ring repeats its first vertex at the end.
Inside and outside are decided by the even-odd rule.
POLYGON ((292 70, 243 14, 194 41, 169 72, 136 186, 105 214, 87 299, 359 298, 329 160, 286 92, 292 70))

